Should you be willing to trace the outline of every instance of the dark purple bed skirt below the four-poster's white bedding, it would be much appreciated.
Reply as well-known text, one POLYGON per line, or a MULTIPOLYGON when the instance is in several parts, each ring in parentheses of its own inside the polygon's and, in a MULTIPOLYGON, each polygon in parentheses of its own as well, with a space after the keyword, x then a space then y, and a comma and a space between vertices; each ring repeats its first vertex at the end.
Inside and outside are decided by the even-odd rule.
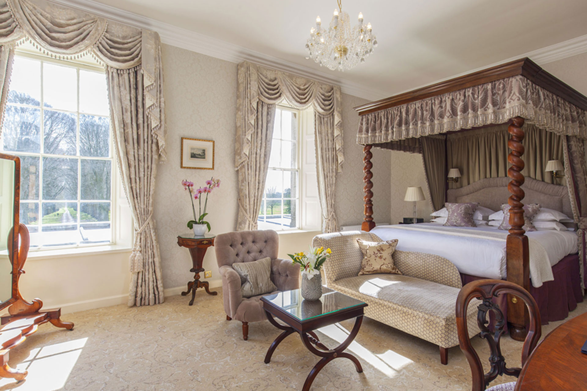
MULTIPOLYGON (((577 303, 583 301, 578 254, 568 255, 561 259, 552 267, 552 274, 554 274, 554 281, 546 281, 539 288, 535 288, 530 283, 530 294, 538 304, 543 325, 565 319, 569 315, 569 311, 575 310, 577 303)), ((463 285, 481 280, 481 278, 484 277, 461 273, 463 285)), ((495 301, 506 315, 507 301, 505 296, 495 301)))

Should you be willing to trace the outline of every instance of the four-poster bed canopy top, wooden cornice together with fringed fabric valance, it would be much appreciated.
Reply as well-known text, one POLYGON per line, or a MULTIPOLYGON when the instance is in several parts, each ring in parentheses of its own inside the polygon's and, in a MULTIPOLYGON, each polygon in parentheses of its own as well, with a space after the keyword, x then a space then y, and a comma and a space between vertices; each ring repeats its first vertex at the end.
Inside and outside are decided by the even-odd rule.
POLYGON ((585 101, 571 87, 528 59, 487 71, 492 71, 492 77, 485 78, 490 81, 454 79, 357 107, 361 114, 357 143, 382 144, 502 124, 517 116, 556 134, 587 137, 585 101), (508 76, 512 73, 518 74, 508 76), (550 79, 557 85, 546 82, 550 79), (455 80, 460 84, 451 83, 455 80))

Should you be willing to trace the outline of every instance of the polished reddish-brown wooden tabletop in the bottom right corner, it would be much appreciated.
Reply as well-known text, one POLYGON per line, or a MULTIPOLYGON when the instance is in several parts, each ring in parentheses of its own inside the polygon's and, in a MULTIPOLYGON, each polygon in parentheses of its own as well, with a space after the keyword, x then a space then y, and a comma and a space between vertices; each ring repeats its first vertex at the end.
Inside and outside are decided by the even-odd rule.
POLYGON ((587 313, 569 319, 538 344, 525 363, 516 391, 587 389, 587 313))

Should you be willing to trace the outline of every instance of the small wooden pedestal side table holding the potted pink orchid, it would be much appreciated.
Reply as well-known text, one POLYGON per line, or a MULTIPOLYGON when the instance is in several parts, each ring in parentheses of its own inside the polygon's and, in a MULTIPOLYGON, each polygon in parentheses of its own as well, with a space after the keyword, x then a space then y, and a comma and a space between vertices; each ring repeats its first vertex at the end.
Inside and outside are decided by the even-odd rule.
POLYGON ((182 292, 185 296, 191 292, 190 305, 194 304, 195 290, 204 288, 209 295, 217 295, 218 292, 211 292, 208 288, 208 281, 200 281, 200 273, 204 272, 202 263, 204 262, 204 255, 210 246, 214 246, 214 238, 216 235, 205 234, 204 236, 195 236, 193 233, 181 234, 177 237, 177 244, 181 247, 186 247, 190 250, 191 263, 194 267, 190 271, 194 274, 194 281, 187 283, 187 291, 182 292))

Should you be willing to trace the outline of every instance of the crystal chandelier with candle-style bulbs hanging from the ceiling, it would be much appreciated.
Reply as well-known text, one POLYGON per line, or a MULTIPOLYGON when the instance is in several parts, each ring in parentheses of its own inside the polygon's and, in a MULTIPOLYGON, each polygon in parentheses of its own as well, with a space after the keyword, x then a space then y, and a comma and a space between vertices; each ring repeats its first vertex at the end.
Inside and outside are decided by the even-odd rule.
POLYGON ((371 23, 363 25, 363 14, 359 12, 359 24, 351 28, 349 14, 342 11, 341 0, 337 0, 338 9, 334 10, 328 29, 322 28, 320 16, 316 18, 316 27, 310 30, 306 43, 309 56, 330 70, 352 69, 377 46, 377 39, 371 32, 371 23))

